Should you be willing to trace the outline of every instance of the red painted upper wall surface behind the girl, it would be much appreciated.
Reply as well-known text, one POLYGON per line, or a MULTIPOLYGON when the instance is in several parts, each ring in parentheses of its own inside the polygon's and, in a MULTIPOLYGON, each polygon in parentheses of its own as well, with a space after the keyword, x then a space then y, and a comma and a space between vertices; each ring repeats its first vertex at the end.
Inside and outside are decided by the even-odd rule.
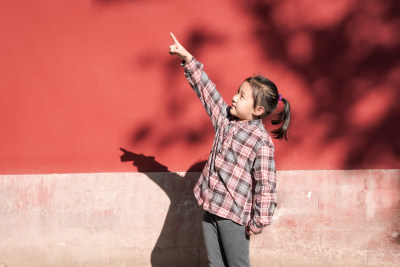
POLYGON ((394 0, 2 1, 0 173, 137 170, 120 148, 170 171, 205 160, 213 129, 169 32, 228 103, 249 75, 277 83, 292 104, 279 170, 399 168, 399 14, 394 0))

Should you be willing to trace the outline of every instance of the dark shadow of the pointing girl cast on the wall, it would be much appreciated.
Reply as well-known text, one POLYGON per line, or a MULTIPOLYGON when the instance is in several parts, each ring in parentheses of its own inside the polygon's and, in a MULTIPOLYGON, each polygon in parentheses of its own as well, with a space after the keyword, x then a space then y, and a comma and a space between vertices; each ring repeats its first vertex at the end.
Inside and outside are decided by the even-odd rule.
POLYGON ((182 177, 168 170, 153 156, 120 149, 124 153, 121 161, 132 161, 138 171, 146 173, 170 199, 164 226, 151 253, 152 266, 206 266, 202 210, 193 196, 193 188, 199 178, 194 171, 204 167, 205 161, 192 165, 182 177))

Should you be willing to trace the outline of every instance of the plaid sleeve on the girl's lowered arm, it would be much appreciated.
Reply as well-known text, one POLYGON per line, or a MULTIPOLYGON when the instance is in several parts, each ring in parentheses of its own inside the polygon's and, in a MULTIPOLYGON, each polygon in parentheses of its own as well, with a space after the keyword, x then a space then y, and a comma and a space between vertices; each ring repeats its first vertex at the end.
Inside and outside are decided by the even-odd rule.
POLYGON ((277 205, 276 171, 272 146, 265 144, 257 150, 253 174, 255 183, 254 213, 247 226, 253 233, 258 234, 263 231, 265 226, 271 224, 277 205))

